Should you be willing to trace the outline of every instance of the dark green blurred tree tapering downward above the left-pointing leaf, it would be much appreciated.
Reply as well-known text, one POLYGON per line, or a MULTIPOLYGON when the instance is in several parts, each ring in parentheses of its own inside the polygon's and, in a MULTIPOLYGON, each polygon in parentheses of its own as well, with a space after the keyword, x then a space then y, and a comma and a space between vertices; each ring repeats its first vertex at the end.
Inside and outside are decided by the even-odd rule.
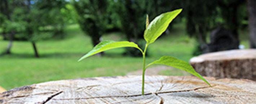
POLYGON ((101 36, 106 32, 109 16, 107 0, 73 0, 78 14, 80 28, 92 39, 93 46, 100 43, 101 36))

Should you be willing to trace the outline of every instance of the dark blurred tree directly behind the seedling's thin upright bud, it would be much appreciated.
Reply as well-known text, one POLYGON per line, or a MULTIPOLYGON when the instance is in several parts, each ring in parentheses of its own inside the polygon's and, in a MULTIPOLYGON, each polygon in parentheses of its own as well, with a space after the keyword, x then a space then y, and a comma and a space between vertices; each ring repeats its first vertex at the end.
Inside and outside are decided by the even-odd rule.
MULTIPOLYGON (((145 42, 142 39, 147 13, 146 0, 118 0, 116 5, 118 5, 116 12, 121 20, 121 30, 125 37, 128 41, 137 43, 139 47, 144 46, 145 42)), ((139 50, 133 48, 125 49, 125 55, 141 57, 139 50)))

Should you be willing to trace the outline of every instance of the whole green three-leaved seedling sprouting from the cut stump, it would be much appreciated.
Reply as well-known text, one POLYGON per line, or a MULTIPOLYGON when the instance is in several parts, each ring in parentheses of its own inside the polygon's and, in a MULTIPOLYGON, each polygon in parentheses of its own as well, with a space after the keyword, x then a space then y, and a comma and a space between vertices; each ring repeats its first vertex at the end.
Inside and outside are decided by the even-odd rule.
POLYGON ((142 95, 144 95, 144 80, 145 80, 145 71, 146 68, 154 65, 154 64, 162 64, 167 66, 172 66, 175 68, 179 68, 181 70, 184 70, 186 72, 189 72, 190 74, 199 77, 201 80, 206 82, 209 86, 209 82, 207 82, 206 79, 204 79, 200 74, 198 74, 194 68, 187 62, 178 60, 177 58, 171 57, 171 56, 163 56, 159 60, 153 61, 149 63, 146 66, 146 59, 145 54, 147 51, 147 47, 154 43, 155 40, 167 29, 168 25, 172 22, 172 20, 180 14, 182 9, 177 9, 171 12, 160 14, 159 16, 156 16, 156 18, 149 23, 149 17, 147 15, 146 17, 146 29, 144 32, 144 39, 146 40, 145 49, 142 50, 136 43, 128 42, 128 41, 121 41, 121 42, 115 42, 115 41, 102 41, 99 44, 97 44, 92 51, 88 52, 86 55, 81 57, 78 61, 83 60, 84 58, 87 58, 89 56, 95 55, 97 53, 114 49, 114 48, 121 48, 121 47, 134 47, 141 51, 143 56, 143 68, 142 68, 142 95))

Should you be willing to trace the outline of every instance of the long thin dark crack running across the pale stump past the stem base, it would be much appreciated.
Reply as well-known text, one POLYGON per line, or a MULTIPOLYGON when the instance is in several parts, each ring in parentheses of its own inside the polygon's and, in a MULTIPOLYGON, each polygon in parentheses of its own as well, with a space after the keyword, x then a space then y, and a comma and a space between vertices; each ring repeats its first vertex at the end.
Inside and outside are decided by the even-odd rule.
MULTIPOLYGON (((188 91, 195 91, 199 89, 206 89, 206 88, 211 88, 213 86, 204 86, 204 87, 199 87, 199 88, 194 88, 194 89, 187 89, 187 90, 178 90, 178 91, 163 91, 163 92, 156 92, 156 93, 146 93, 144 96, 147 95, 158 95, 158 94, 165 94, 165 93, 180 93, 180 92, 188 92, 188 91)), ((128 97, 137 97, 137 96, 143 96, 142 94, 137 94, 137 95, 123 95, 123 96, 95 96, 95 97, 88 97, 88 98, 62 98, 62 99, 52 99, 52 100, 80 100, 80 99, 99 99, 99 98, 128 98, 128 97)))

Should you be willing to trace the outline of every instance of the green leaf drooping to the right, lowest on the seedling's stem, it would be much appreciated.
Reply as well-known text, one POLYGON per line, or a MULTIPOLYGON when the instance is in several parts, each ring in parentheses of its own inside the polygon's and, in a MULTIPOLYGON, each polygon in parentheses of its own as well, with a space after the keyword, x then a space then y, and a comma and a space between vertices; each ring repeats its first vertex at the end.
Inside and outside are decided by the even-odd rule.
POLYGON ((172 66, 172 67, 184 70, 186 72, 189 72, 190 74, 193 74, 194 76, 199 77, 204 82, 206 82, 209 86, 211 86, 206 79, 204 79, 200 74, 198 74, 194 70, 194 68, 189 63, 187 63, 185 61, 179 60, 179 59, 171 57, 171 56, 163 56, 159 60, 151 62, 149 65, 147 65, 147 67, 149 67, 150 65, 153 65, 153 64, 162 64, 162 65, 172 66))

